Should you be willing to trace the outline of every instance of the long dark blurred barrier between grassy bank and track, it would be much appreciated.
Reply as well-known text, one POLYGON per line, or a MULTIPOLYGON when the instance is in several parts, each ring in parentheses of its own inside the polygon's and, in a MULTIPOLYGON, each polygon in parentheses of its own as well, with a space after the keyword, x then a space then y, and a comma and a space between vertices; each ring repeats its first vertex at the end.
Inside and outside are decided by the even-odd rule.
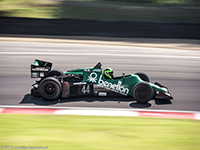
POLYGON ((0 17, 0 34, 200 39, 200 24, 0 17))

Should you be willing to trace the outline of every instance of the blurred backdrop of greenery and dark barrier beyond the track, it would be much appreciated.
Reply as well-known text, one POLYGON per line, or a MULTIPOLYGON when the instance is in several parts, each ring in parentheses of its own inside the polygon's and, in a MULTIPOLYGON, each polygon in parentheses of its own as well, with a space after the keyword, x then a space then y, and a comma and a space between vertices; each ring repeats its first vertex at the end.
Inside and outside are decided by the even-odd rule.
POLYGON ((0 6, 1 34, 200 38, 200 0, 0 0, 0 6))

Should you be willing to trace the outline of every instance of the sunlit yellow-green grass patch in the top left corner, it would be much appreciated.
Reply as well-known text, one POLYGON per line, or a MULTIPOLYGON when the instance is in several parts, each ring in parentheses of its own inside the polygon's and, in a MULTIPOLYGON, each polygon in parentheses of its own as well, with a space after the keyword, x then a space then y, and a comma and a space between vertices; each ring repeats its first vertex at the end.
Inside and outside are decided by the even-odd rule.
POLYGON ((0 0, 0 16, 56 18, 58 2, 51 0, 0 0))

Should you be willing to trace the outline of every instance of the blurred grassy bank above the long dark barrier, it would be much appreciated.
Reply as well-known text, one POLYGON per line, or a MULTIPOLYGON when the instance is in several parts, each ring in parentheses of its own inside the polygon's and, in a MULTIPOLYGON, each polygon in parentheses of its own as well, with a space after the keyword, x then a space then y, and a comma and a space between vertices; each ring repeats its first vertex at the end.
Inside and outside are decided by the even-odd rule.
POLYGON ((1 0, 0 16, 98 21, 200 23, 199 6, 160 6, 103 0, 1 0))

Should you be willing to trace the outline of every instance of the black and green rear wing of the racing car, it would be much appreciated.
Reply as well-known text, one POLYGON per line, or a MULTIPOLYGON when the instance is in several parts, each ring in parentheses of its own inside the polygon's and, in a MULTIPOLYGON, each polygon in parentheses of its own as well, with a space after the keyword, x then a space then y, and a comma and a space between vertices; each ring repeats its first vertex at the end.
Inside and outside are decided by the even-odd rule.
POLYGON ((43 78, 51 70, 52 63, 36 59, 31 64, 31 78, 43 78))

